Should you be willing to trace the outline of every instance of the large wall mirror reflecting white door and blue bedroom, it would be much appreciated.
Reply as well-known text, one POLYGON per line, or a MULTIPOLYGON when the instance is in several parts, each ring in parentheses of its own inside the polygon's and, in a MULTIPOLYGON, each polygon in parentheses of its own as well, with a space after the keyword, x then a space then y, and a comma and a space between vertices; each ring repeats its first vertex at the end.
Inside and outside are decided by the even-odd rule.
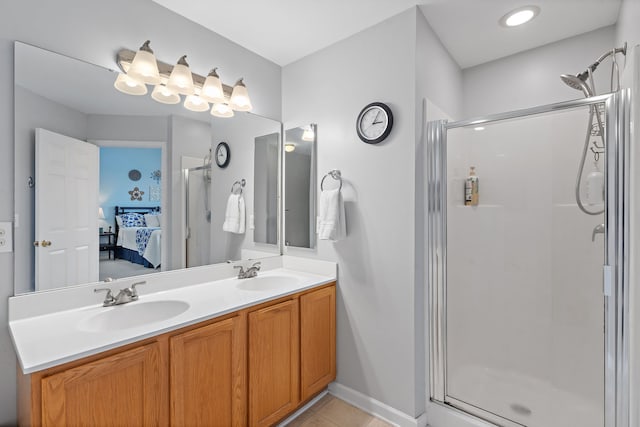
POLYGON ((115 78, 15 43, 15 293, 279 255, 277 186, 258 176, 278 182, 279 156, 256 141, 280 147, 281 123, 125 95, 115 78), (246 222, 226 231, 232 198, 246 222))

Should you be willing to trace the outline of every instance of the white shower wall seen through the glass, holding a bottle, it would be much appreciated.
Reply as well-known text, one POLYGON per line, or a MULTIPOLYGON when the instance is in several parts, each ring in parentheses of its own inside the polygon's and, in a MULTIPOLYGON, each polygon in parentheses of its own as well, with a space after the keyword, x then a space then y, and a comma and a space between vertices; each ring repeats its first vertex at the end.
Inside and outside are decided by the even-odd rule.
POLYGON ((448 132, 447 394, 527 426, 603 425, 604 218, 573 193, 587 118, 448 132))

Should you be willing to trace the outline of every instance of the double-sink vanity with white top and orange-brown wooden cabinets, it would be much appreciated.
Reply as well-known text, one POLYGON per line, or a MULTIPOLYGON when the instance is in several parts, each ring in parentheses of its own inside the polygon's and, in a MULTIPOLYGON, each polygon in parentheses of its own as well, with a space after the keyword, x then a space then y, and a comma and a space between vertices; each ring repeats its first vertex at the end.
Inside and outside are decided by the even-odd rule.
POLYGON ((269 426, 292 414, 335 379, 336 264, 261 264, 243 279, 220 264, 10 298, 20 425, 269 426), (94 293, 136 282, 126 304, 94 293))

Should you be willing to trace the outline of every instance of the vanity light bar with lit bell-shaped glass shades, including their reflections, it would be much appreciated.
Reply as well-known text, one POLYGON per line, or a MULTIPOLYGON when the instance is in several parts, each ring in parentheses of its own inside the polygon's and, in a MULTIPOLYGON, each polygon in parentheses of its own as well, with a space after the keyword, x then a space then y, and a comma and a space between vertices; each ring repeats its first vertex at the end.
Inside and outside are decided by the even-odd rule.
MULTIPOLYGON (((154 84, 151 97, 163 104, 178 104, 180 95, 185 95, 184 107, 192 111, 207 111, 209 103, 211 115, 216 117, 233 117, 235 111, 251 111, 251 99, 243 79, 238 80, 234 87, 225 85, 220 81, 217 68, 212 69, 207 77, 192 73, 186 61, 186 55, 182 56, 176 65, 170 65, 155 59, 146 41, 138 52, 129 49, 121 49, 118 52, 117 63, 123 73, 118 75, 114 86, 121 92, 131 95, 144 95, 147 93, 146 84, 154 84), (141 53, 142 52, 142 53, 141 53), (152 64, 158 70, 159 79, 155 83, 152 79, 152 71, 132 72, 134 60, 140 58, 141 63, 153 58, 152 64)), ((137 61, 137 60, 136 60, 137 61)), ((137 64, 137 62, 136 62, 137 64)), ((137 67, 137 65, 136 65, 137 67)), ((145 70, 154 67, 146 62, 145 70)))

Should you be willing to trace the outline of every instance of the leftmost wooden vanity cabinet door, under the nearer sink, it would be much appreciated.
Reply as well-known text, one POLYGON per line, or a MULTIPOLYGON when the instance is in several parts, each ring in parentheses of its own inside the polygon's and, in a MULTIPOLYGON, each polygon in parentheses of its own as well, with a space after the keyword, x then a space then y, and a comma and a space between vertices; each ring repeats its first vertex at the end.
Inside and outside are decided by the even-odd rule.
POLYGON ((154 342, 45 377, 42 425, 167 425, 167 375, 154 342))

